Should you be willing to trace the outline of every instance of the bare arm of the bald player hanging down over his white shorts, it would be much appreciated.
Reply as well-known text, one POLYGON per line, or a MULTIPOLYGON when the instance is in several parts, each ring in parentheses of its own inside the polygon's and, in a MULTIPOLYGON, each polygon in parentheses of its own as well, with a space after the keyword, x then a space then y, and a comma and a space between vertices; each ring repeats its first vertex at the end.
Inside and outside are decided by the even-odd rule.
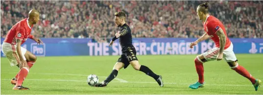
POLYGON ((22 43, 22 39, 17 39, 17 53, 19 56, 19 59, 21 61, 21 63, 19 64, 19 68, 22 69, 23 67, 27 66, 26 61, 23 58, 22 52, 21 52, 21 43, 22 43))

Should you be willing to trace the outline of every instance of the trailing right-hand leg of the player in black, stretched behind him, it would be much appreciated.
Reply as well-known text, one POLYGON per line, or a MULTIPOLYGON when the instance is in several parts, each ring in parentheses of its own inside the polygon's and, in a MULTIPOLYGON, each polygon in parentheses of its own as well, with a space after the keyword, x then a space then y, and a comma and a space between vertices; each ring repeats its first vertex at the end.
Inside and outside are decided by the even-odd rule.
POLYGON ((153 72, 151 71, 151 69, 149 69, 148 67, 146 67, 146 66, 144 66, 144 65, 140 65, 138 60, 130 61, 130 64, 132 65, 132 67, 133 67, 135 70, 142 71, 142 72, 145 73, 146 75, 151 76, 152 78, 154 78, 155 81, 157 81, 157 83, 159 84, 159 86, 161 86, 161 87, 164 86, 164 83, 163 83, 163 80, 162 80, 162 76, 156 75, 156 74, 153 73, 153 72))

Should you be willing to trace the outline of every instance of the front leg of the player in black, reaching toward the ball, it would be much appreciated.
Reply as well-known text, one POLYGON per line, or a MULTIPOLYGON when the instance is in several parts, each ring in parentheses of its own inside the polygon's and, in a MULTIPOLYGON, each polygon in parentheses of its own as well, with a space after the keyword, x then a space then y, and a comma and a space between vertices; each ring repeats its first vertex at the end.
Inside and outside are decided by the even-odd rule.
POLYGON ((121 68, 123 68, 123 67, 124 67, 124 64, 122 62, 117 62, 114 65, 111 74, 104 81, 102 81, 101 83, 95 84, 95 86, 96 87, 105 87, 105 86, 107 86, 107 84, 109 82, 111 82, 118 75, 119 70, 121 68))

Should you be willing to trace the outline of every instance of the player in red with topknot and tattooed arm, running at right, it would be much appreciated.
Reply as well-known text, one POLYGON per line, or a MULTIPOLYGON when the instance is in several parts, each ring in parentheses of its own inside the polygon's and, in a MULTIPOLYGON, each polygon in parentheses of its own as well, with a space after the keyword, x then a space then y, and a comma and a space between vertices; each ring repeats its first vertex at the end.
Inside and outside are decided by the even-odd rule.
POLYGON ((205 34, 198 38, 196 41, 192 42, 190 48, 197 45, 198 42, 211 38, 215 42, 215 48, 209 50, 194 59, 196 72, 199 79, 196 83, 189 85, 191 89, 198 89, 199 87, 204 87, 204 67, 203 63, 212 60, 224 60, 229 64, 230 68, 235 70, 240 75, 249 79, 258 91, 259 86, 262 81, 255 79, 249 74, 249 72, 239 65, 238 60, 233 52, 233 44, 229 40, 226 34, 224 25, 213 16, 208 14, 208 3, 200 4, 197 7, 197 15, 200 20, 203 20, 205 34))

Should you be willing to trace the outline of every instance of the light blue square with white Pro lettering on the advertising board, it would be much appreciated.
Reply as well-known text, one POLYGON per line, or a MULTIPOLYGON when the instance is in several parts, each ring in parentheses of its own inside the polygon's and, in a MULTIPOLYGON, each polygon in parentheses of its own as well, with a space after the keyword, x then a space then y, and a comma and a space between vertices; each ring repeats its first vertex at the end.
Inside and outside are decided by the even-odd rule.
POLYGON ((31 43, 31 53, 36 56, 46 56, 46 44, 31 43))

